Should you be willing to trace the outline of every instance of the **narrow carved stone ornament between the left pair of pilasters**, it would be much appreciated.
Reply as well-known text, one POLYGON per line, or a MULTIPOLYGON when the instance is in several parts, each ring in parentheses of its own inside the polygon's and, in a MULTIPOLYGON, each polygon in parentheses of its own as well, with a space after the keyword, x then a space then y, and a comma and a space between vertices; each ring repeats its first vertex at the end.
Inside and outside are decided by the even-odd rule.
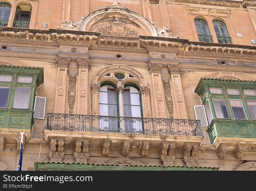
POLYGON ((68 107, 69 113, 73 114, 73 108, 76 99, 76 82, 77 76, 76 75, 69 75, 69 88, 68 88, 68 107))

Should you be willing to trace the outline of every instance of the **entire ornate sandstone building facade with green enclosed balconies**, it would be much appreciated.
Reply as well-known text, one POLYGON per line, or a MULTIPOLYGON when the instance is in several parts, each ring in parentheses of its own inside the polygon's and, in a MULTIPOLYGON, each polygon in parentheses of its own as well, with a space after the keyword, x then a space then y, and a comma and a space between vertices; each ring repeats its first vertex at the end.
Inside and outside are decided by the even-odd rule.
POLYGON ((256 170, 255 1, 0 8, 0 170, 256 170))

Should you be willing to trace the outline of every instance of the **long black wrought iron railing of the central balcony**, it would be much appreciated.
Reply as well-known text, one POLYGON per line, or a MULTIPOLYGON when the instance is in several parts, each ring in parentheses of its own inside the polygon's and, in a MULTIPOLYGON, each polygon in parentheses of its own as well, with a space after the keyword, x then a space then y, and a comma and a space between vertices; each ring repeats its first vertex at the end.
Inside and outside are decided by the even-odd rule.
POLYGON ((47 113, 48 130, 203 137, 199 120, 47 113))

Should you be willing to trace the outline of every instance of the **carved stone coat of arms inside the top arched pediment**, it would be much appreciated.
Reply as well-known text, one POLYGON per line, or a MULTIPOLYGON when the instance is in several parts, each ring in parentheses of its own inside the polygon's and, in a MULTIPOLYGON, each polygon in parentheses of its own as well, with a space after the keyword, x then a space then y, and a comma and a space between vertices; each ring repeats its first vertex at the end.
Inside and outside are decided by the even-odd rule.
POLYGON ((109 26, 98 28, 98 31, 102 35, 139 37, 137 31, 131 30, 131 28, 125 26, 127 23, 128 22, 120 21, 119 18, 115 18, 115 21, 109 22, 109 26))

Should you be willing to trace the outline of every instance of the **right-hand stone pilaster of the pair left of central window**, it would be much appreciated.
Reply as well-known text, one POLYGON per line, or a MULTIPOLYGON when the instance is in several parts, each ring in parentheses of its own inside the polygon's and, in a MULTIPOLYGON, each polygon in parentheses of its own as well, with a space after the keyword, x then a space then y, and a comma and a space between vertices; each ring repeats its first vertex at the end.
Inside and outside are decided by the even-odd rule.
POLYGON ((78 71, 78 97, 77 114, 88 114, 88 66, 90 59, 77 59, 78 71))

